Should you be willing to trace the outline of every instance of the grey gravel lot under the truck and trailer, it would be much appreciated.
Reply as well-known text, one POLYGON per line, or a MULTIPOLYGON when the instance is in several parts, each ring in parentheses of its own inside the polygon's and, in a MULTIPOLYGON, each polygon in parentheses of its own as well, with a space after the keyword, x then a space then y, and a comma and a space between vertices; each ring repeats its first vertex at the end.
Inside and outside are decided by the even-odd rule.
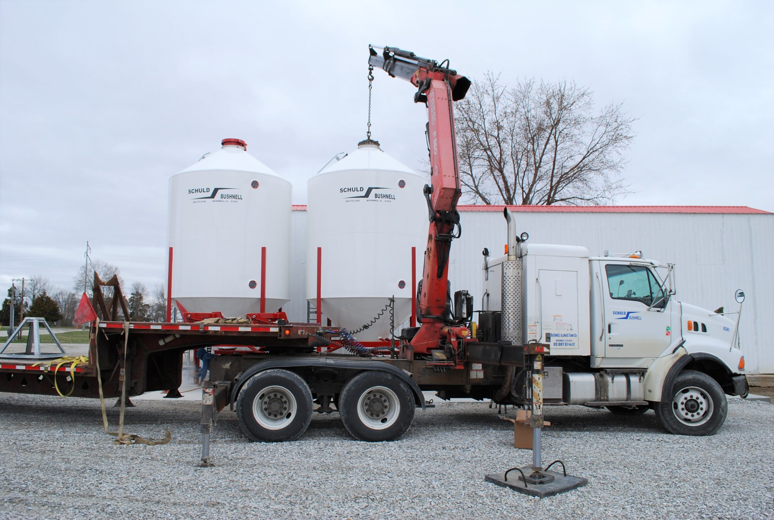
POLYGON ((543 460, 590 482, 543 499, 484 481, 531 460, 486 404, 417 410, 406 436, 378 444, 348 438, 337 414, 294 443, 249 443, 224 411, 210 469, 194 467, 197 403, 136 404, 126 431, 166 427, 170 444, 114 446, 97 400, 0 394, 0 517, 774 518, 774 405, 761 402, 730 400, 711 437, 663 433, 653 412, 549 408, 543 460))

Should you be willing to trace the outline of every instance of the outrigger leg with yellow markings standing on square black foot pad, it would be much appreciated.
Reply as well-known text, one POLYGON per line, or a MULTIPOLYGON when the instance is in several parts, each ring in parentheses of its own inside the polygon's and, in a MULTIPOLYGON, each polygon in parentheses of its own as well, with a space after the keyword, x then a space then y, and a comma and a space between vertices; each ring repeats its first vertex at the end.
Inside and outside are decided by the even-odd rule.
POLYGON ((564 493, 565 491, 588 484, 588 480, 583 477, 568 475, 561 460, 555 460, 543 468, 543 460, 541 458, 543 440, 543 356, 548 352, 548 346, 537 343, 530 343, 524 347, 524 367, 532 369, 530 381, 533 399, 529 406, 529 410, 532 412, 529 416, 529 425, 533 429, 532 465, 512 467, 503 473, 485 476, 487 482, 502 487, 510 487, 513 491, 519 491, 519 493, 539 498, 550 497, 551 495, 564 493), (561 464, 562 473, 549 470, 556 463, 561 464), (518 472, 518 476, 516 476, 515 472, 518 472), (510 480, 508 479, 509 474, 511 474, 510 480))

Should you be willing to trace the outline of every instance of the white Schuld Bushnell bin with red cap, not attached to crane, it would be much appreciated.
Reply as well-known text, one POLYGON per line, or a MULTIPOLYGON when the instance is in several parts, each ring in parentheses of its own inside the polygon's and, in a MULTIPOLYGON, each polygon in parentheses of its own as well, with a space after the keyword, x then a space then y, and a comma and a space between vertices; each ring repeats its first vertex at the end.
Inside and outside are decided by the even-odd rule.
POLYGON ((188 312, 259 312, 265 247, 265 312, 276 312, 290 294, 291 184, 244 141, 221 144, 170 178, 172 301, 188 312))

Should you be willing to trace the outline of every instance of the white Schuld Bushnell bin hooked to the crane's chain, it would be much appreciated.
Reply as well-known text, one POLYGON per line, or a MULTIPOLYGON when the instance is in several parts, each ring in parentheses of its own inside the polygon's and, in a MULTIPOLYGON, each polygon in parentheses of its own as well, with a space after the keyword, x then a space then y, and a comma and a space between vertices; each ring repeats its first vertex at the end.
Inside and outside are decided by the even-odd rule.
MULTIPOLYGON (((335 325, 356 330, 393 295, 396 328, 411 315, 411 252, 417 281, 428 227, 426 180, 379 149, 358 150, 310 178, 307 200, 307 299, 317 299, 321 247, 321 308, 335 325)), ((389 336, 389 312, 360 341, 389 336)), ((399 332, 399 331, 398 331, 399 332)))

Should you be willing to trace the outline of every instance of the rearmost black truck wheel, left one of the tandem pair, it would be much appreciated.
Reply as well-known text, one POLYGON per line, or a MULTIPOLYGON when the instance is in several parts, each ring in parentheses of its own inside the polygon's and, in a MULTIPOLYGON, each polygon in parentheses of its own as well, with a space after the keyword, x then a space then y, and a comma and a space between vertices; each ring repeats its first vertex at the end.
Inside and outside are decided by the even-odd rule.
POLYGON ((307 381, 289 370, 255 374, 237 400, 239 426, 245 435, 263 443, 296 440, 312 419, 312 392, 307 381))

